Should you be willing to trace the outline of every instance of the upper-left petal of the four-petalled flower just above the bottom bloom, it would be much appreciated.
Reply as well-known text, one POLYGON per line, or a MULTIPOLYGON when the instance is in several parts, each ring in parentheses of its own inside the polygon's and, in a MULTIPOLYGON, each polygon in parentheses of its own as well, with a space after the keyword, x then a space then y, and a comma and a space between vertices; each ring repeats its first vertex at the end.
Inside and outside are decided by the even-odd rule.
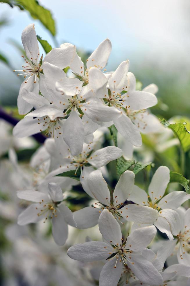
POLYGON ((93 194, 94 198, 98 202, 104 205, 109 205, 110 203, 110 191, 107 187, 107 183, 102 177, 100 170, 91 172, 87 178, 88 188, 93 194))

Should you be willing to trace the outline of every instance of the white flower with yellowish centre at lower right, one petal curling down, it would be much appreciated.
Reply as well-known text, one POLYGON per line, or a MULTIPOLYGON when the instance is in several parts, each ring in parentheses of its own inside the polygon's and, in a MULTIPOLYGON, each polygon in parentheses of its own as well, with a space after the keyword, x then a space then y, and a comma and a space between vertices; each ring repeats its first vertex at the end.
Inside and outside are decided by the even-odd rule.
POLYGON ((190 198, 189 194, 183 191, 173 191, 164 196, 166 187, 170 181, 170 170, 166 166, 159 167, 148 187, 147 193, 137 186, 134 186, 130 200, 139 205, 146 205, 158 212, 158 219, 154 225, 159 231, 166 233, 170 240, 173 235, 178 234, 176 226, 180 224, 179 215, 174 210, 190 198))

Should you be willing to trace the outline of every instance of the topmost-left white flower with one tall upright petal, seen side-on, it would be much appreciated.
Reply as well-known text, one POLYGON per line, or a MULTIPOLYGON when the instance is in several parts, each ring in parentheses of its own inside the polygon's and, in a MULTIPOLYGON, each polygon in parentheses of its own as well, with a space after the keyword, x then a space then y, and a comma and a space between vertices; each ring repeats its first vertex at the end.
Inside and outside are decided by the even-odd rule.
MULTIPOLYGON (((43 72, 44 64, 42 63, 42 56, 40 57, 40 51, 38 47, 38 41, 34 24, 28 25, 22 32, 22 43, 26 53, 27 59, 26 66, 22 66, 24 73, 24 82, 21 84, 19 90, 19 96, 17 99, 17 105, 20 114, 26 114, 33 107, 32 104, 26 102, 22 96, 23 88, 34 93, 39 92, 39 80, 43 72)), ((49 62, 61 69, 68 66, 69 62, 74 58, 75 48, 74 46, 63 46, 61 48, 52 49, 45 57, 43 62, 49 62)), ((15 70, 14 70, 15 71, 15 70)), ((64 72, 63 72, 64 73, 64 72)))

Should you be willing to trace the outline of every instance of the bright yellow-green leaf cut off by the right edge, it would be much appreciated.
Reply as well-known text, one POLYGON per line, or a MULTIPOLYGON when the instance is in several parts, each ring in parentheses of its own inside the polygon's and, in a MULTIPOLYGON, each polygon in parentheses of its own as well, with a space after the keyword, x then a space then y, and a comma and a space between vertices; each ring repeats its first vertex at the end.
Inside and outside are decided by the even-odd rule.
POLYGON ((173 133, 178 137, 180 140, 182 149, 184 152, 189 151, 190 149, 190 132, 187 130, 187 122, 179 122, 170 124, 165 119, 160 121, 165 127, 170 128, 173 133))

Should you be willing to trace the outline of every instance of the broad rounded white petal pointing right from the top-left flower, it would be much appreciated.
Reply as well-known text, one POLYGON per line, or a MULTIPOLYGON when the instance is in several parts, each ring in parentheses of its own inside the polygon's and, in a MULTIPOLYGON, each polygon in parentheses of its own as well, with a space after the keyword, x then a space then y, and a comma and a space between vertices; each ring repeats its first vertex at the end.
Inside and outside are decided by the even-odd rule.
POLYGON ((54 64, 60 69, 64 69, 69 66, 69 63, 74 59, 75 46, 65 43, 61 45, 61 48, 52 49, 45 57, 44 62, 54 64))

